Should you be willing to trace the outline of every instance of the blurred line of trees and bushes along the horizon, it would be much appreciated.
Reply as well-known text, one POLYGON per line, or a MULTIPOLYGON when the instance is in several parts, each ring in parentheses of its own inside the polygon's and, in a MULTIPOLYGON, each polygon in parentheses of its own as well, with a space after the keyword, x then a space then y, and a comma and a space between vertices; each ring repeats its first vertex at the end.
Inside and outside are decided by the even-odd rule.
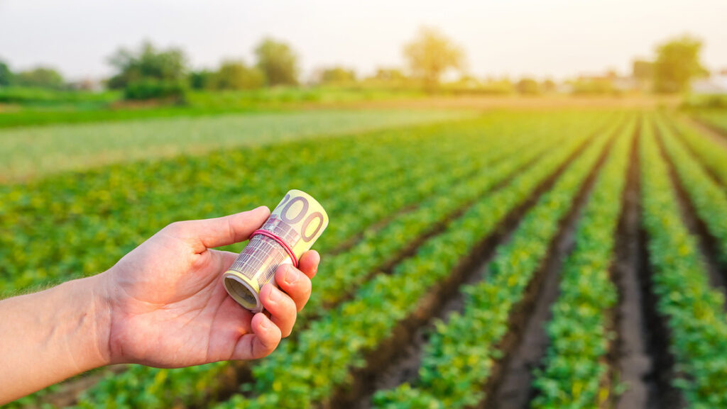
MULTIPOLYGON (((653 60, 636 60, 632 78, 648 84, 654 92, 686 92, 691 79, 708 75, 700 62, 702 41, 691 36, 670 39, 656 46, 653 60)), ((254 62, 243 59, 222 61, 215 70, 193 70, 182 49, 160 49, 146 41, 137 49, 121 48, 108 58, 114 74, 105 81, 109 89, 120 89, 129 100, 183 100, 188 89, 245 90, 269 86, 300 84, 300 65, 297 52, 284 41, 265 38, 254 48, 254 62)), ((366 81, 378 86, 441 89, 443 75, 459 71, 459 89, 490 93, 518 92, 539 94, 555 91, 553 81, 521 78, 481 81, 467 75, 466 55, 461 46, 435 28, 421 28, 403 46, 406 70, 379 68, 366 78, 358 78, 353 69, 334 66, 314 73, 316 84, 353 85, 366 81)), ((615 74, 614 74, 615 75, 615 74)), ((608 78, 578 79, 570 82, 574 92, 598 93, 608 91, 608 78)), ((450 88, 451 88, 451 84, 450 88)), ((17 73, 0 61, 0 86, 27 86, 63 89, 63 76, 52 68, 38 67, 17 73)))

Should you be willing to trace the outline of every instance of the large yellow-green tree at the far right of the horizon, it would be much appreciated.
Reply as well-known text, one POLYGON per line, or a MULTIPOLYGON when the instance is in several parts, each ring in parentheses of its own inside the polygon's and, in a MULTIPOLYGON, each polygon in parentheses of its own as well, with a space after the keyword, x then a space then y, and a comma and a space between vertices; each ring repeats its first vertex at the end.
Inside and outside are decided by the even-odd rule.
POLYGON ((688 35, 659 44, 654 62, 656 92, 685 92, 692 78, 706 74, 700 52, 702 41, 688 35))

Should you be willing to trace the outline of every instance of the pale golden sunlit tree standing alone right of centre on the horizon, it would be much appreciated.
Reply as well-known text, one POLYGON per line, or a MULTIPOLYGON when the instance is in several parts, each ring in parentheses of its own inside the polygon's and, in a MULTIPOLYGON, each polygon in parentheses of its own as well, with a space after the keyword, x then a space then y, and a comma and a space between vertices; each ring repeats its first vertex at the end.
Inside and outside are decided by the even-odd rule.
POLYGON ((465 54, 435 28, 422 27, 417 37, 406 44, 404 57, 411 73, 424 81, 428 89, 438 86, 443 73, 450 68, 462 68, 465 54))

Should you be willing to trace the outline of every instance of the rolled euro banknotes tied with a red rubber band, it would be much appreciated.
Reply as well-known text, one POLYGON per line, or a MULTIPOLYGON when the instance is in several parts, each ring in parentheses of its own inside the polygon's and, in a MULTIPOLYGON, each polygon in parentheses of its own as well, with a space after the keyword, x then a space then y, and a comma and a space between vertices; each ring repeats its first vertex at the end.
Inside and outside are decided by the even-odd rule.
POLYGON ((225 290, 242 307, 261 312, 262 286, 276 285, 275 272, 281 264, 297 267, 300 256, 327 226, 328 214, 316 199, 301 190, 290 190, 222 274, 225 290))

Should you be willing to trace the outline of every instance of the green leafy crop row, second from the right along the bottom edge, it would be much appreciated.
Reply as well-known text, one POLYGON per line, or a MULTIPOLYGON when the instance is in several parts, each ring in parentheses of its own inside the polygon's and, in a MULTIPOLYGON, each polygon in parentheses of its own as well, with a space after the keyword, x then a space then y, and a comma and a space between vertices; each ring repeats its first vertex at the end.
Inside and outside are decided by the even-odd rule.
POLYGON ((560 295, 547 324, 545 368, 535 373, 533 408, 600 408, 612 394, 603 386, 605 357, 614 339, 608 314, 618 299, 609 272, 632 134, 628 129, 616 140, 578 222, 575 248, 563 265, 560 295))

